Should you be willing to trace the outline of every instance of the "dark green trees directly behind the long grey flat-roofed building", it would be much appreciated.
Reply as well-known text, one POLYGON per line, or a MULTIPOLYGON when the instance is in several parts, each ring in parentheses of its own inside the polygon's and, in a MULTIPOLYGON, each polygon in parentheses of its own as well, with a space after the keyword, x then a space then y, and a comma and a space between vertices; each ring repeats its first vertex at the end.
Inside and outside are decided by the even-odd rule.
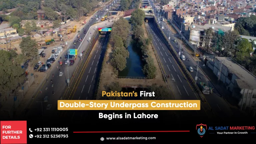
POLYGON ((256 47, 255 40, 241 38, 239 32, 227 31, 218 34, 212 28, 205 30, 203 50, 207 53, 218 51, 218 56, 231 57, 237 63, 245 67, 252 74, 256 75, 256 56, 251 56, 253 47, 256 47))

